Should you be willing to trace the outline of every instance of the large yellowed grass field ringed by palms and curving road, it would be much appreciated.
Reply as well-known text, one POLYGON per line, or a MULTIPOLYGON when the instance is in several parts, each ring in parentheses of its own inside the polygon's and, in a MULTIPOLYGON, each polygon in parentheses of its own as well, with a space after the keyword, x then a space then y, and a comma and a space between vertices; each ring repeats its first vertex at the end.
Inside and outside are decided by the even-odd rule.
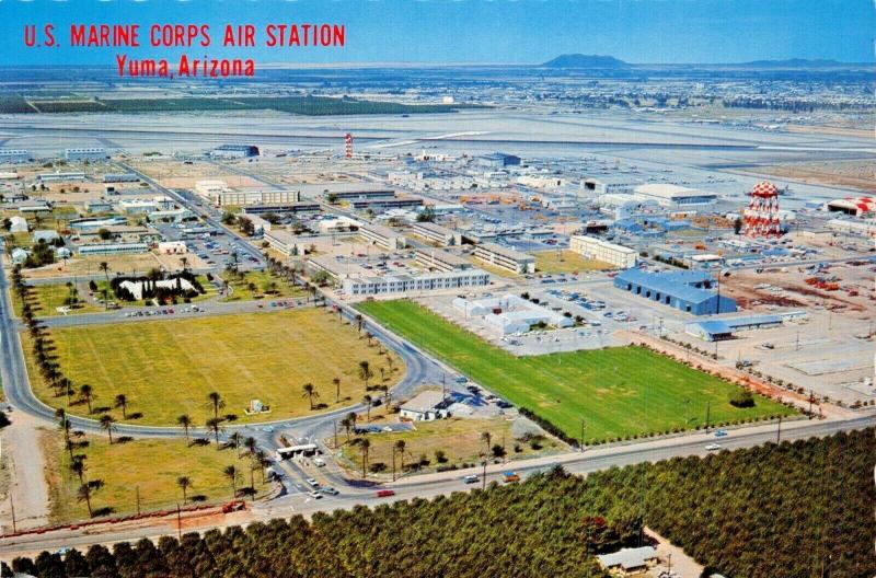
MULTIPOLYGON (((374 375, 369 385, 381 383, 381 368, 387 385, 404 374, 395 354, 382 354, 377 342, 369 347, 353 326, 323 309, 82 325, 50 335, 61 371, 77 391, 90 384, 92 405, 107 408, 119 421, 122 411, 113 402, 125 394, 128 414, 142 413, 129 421, 143 425, 175 425, 177 416, 187 414, 203 426, 212 416, 207 395, 214 391, 226 402, 219 415, 234 414, 244 423, 314 413, 302 394, 306 383, 314 385, 319 397, 313 402, 325 404, 323 409, 349 405, 366 393, 359 378, 362 360, 374 375), (341 379, 339 403, 334 378, 341 379), (261 400, 272 412, 244 415, 251 400, 261 400)), ((22 334, 22 342, 30 358, 30 336, 22 334)), ((42 400, 67 405, 66 397, 56 397, 43 382, 32 359, 28 374, 42 400)), ((72 402, 69 412, 88 414, 85 404, 76 403, 76 396, 72 402)))

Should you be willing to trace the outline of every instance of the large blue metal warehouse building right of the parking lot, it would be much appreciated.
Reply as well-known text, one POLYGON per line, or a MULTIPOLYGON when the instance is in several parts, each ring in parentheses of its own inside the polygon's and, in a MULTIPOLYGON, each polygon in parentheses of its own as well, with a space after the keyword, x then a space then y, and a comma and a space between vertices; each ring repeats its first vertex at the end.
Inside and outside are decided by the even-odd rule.
POLYGON ((733 313, 736 301, 712 290, 715 279, 705 271, 647 273, 626 269, 614 287, 694 315, 733 313))

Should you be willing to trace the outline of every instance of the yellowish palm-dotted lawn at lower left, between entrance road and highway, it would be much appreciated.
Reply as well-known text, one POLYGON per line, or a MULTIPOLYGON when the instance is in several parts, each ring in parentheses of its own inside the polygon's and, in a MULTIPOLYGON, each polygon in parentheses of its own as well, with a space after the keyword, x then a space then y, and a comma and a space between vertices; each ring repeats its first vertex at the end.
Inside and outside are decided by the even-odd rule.
MULTIPOLYGON (((195 497, 206 502, 231 499, 231 479, 222 473, 228 465, 238 469, 238 489, 250 487, 252 481, 252 461, 245 449, 241 449, 238 458, 233 448, 219 450, 215 444, 186 447, 183 439, 139 439, 111 446, 106 438, 87 436, 77 441, 88 442, 85 447, 73 450, 74 455, 85 455, 83 479, 100 479, 104 484, 92 497, 92 509, 112 508, 108 513, 114 516, 137 512, 138 489, 141 511, 182 506, 183 493, 176 484, 180 476, 192 481, 192 487, 186 489, 186 499, 195 497)), ((77 499, 80 482, 70 471, 70 456, 60 432, 44 434, 43 444, 47 456, 51 521, 87 520, 88 506, 77 499)), ((253 471, 253 477, 257 493, 269 488, 268 484, 262 484, 257 469, 253 471)))

